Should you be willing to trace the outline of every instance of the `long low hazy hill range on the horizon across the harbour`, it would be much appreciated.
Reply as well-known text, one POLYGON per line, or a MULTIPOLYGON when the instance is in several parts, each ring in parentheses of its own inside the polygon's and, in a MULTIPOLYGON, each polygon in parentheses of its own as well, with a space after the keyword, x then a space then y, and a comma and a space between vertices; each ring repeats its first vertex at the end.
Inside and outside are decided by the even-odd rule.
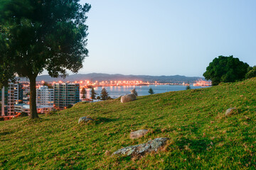
MULTIPOLYGON (((204 79, 203 77, 185 77, 180 75, 175 76, 147 76, 147 75, 122 75, 122 74, 102 74, 102 73, 90 73, 90 74, 72 74, 63 79, 52 78, 48 75, 41 75, 36 78, 36 81, 81 81, 81 80, 92 80, 92 81, 159 81, 164 83, 177 83, 177 82, 193 82, 198 79, 204 79)), ((24 80, 24 79, 22 79, 24 80)))

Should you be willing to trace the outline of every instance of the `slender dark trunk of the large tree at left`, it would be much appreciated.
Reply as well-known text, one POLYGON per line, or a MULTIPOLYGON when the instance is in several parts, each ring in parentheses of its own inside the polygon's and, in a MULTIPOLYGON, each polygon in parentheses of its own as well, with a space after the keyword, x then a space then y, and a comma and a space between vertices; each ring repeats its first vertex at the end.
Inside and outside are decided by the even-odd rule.
POLYGON ((36 109, 36 76, 33 75, 29 77, 30 81, 30 98, 29 98, 29 107, 30 107, 30 115, 31 119, 39 118, 37 109, 36 109))

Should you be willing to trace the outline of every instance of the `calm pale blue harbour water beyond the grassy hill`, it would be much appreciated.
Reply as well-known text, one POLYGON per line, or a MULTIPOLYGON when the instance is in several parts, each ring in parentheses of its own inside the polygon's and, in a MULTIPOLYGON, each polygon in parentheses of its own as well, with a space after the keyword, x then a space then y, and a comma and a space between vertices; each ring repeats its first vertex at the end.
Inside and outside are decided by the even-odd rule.
MULTIPOLYGON (((175 85, 149 85, 149 86, 106 86, 108 94, 112 98, 118 98, 126 94, 131 94, 132 89, 136 89, 138 96, 149 95, 149 88, 152 88, 155 94, 162 94, 168 91, 182 91, 186 90, 186 86, 175 86, 175 85)), ((206 88, 202 86, 191 86, 191 89, 206 88)), ((100 95, 103 87, 96 87, 95 92, 100 95)), ((87 89, 87 98, 90 98, 90 89, 87 89)))

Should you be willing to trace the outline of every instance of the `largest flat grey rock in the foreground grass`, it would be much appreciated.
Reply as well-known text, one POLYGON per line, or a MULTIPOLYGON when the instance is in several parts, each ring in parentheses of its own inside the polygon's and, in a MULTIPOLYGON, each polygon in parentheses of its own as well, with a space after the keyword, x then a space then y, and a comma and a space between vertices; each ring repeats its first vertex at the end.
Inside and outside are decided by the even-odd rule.
POLYGON ((154 140, 149 140, 148 142, 140 145, 134 145, 129 147, 124 147, 117 150, 113 154, 125 154, 127 156, 142 156, 149 152, 156 152, 162 146, 166 144, 166 141, 169 140, 167 137, 160 137, 154 140))

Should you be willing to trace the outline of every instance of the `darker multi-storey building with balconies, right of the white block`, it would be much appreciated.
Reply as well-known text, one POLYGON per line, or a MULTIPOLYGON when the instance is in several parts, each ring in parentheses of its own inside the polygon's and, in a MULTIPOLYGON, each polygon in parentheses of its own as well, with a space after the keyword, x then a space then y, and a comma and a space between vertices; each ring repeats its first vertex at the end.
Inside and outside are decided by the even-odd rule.
POLYGON ((60 110, 80 101, 80 84, 54 84, 54 107, 60 110))

